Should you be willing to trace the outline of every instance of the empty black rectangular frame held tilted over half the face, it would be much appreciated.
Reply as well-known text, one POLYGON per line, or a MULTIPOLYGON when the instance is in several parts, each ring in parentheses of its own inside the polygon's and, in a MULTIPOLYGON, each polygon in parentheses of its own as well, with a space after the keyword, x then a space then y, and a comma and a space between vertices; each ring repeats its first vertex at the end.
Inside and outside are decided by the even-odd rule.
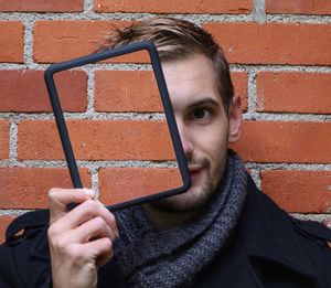
MULTIPOLYGON (((71 179, 73 182, 73 186, 74 188, 83 188, 81 177, 78 173, 78 169, 77 169, 77 164, 76 164, 76 159, 75 159, 74 151, 73 151, 73 148, 71 145, 65 119, 63 116, 63 110, 61 107, 60 98, 57 95, 57 90, 56 90, 56 86, 55 86, 55 82, 54 82, 54 74, 62 72, 62 71, 73 68, 73 67, 78 67, 82 65, 96 63, 99 61, 113 58, 116 56, 121 56, 125 54, 142 51, 142 50, 146 50, 149 53, 149 56, 151 60, 152 70, 153 70, 153 73, 154 73, 154 76, 157 79, 157 84, 158 84, 159 93, 161 96, 161 102, 162 102, 162 105, 164 108, 166 119, 168 122, 174 153, 177 157, 179 170, 180 170, 181 178, 182 178, 182 185, 171 189, 171 190, 161 191, 157 194, 147 195, 147 196, 129 200, 129 201, 126 201, 122 203, 108 205, 107 207, 110 211, 117 211, 117 210, 129 207, 132 205, 142 204, 142 203, 156 201, 156 200, 159 200, 162 198, 184 193, 191 186, 191 178, 190 178, 190 172, 188 169, 186 158, 185 158, 185 154, 184 154, 184 151, 182 148, 181 140, 180 140, 180 135, 179 135, 178 127, 175 124, 175 118, 174 118, 171 100, 169 97, 169 93, 168 93, 168 88, 166 85, 164 75, 163 75, 163 72, 161 68, 161 63, 160 63, 160 58, 159 58, 157 49, 151 42, 148 42, 148 41, 132 43, 129 45, 98 52, 95 54, 86 55, 86 56, 74 58, 71 61, 56 63, 56 64, 50 65, 47 67, 47 70, 44 72, 44 79, 46 83, 51 105, 52 105, 53 113, 55 116, 55 121, 56 121, 58 135, 61 138, 62 147, 64 150, 65 159, 67 162, 67 167, 70 170, 71 179)), ((73 207, 74 205, 71 205, 71 206, 73 207)))

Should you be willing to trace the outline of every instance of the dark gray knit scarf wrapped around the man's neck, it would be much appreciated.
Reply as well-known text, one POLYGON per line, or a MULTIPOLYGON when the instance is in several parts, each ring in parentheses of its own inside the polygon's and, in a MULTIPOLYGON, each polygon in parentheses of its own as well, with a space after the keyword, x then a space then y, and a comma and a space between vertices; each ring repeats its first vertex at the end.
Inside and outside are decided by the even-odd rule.
POLYGON ((183 287, 194 281, 221 250, 238 222, 247 175, 234 152, 216 195, 204 215, 184 227, 157 231, 143 209, 116 213, 119 239, 115 262, 128 287, 183 287))

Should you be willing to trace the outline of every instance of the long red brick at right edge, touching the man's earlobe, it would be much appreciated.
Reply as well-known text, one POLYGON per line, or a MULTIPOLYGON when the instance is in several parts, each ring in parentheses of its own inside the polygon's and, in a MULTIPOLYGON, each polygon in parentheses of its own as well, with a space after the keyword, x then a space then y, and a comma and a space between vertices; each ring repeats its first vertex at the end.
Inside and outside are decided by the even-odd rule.
POLYGON ((232 146, 245 161, 331 163, 331 122, 245 121, 232 146))

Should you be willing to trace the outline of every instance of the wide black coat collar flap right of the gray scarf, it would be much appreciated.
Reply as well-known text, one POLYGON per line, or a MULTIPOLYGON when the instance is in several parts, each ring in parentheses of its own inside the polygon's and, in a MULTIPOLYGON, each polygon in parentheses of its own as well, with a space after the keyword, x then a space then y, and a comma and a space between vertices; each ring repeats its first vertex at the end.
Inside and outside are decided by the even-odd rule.
POLYGON ((255 256, 313 277, 313 267, 300 246, 290 216, 261 193, 248 177, 248 193, 239 224, 247 256, 255 256))

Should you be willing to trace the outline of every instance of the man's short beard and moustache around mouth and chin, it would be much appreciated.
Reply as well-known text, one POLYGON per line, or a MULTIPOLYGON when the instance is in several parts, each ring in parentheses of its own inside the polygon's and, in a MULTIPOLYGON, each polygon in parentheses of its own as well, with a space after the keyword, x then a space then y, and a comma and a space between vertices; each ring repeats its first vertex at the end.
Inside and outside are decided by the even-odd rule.
POLYGON ((203 183, 196 188, 191 188, 188 192, 162 199, 151 203, 152 206, 160 211, 172 212, 172 213, 188 213, 203 210, 207 205, 216 186, 221 182, 224 172, 224 161, 221 161, 214 171, 212 177, 211 162, 209 159, 188 159, 189 166, 197 164, 203 167, 202 172, 205 173, 203 183), (214 181, 213 181, 214 179, 214 181))

